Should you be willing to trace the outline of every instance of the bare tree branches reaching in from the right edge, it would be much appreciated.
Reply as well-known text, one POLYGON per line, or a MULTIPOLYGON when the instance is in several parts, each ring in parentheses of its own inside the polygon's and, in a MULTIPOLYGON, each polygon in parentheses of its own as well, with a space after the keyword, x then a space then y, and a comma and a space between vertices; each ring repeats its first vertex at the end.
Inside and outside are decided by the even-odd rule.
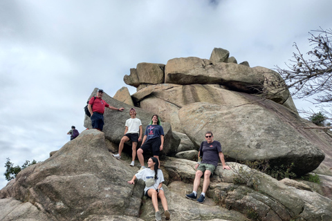
MULTIPOLYGON (((332 113, 324 108, 332 106, 332 29, 312 30, 309 44, 312 50, 305 56, 294 43, 297 52, 293 53, 293 59, 287 64, 287 68, 279 68, 277 71, 284 78, 288 88, 293 89, 293 97, 313 97, 313 104, 320 104, 322 113, 326 119, 331 119, 332 113)), ((313 114, 313 112, 311 112, 313 114)))

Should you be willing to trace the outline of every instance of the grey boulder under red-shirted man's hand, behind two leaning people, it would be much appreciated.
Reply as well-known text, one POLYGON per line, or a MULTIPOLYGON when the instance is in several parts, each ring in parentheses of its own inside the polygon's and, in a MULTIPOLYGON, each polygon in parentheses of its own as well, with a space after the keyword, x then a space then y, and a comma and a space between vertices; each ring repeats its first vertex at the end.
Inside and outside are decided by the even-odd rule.
MULTIPOLYGON (((93 96, 96 95, 98 88, 95 88, 95 90, 93 90, 93 93, 91 93, 91 96, 89 97, 89 99, 93 96)), ((111 142, 114 142, 116 144, 120 143, 120 140, 123 136, 124 133, 124 124, 126 122, 127 119, 130 118, 129 115, 129 110, 130 108, 136 108, 136 113, 137 113, 137 118, 140 119, 140 121, 142 122, 142 128, 143 128, 143 135, 145 133, 145 128, 147 127, 147 125, 150 124, 151 121, 151 117, 154 114, 158 114, 156 112, 149 112, 146 110, 142 110, 142 108, 137 108, 134 106, 130 106, 128 104, 124 104, 122 102, 119 102, 116 99, 113 99, 112 97, 110 97, 109 95, 107 95, 107 93, 104 93, 102 99, 104 99, 107 104, 111 105, 111 106, 115 106, 117 108, 123 107, 124 111, 112 111, 109 108, 105 108, 105 112, 104 112, 104 128, 103 131, 105 133, 105 137, 110 140, 111 142)), ((169 123, 165 122, 165 120, 163 120, 162 118, 162 126, 164 129, 164 133, 165 133, 165 142, 164 142, 164 149, 161 152, 161 154, 165 154, 165 155, 172 155, 175 151, 176 148, 178 146, 178 144, 180 143, 179 139, 175 139, 172 135, 172 127, 169 123)), ((91 120, 89 117, 85 116, 84 118, 84 126, 86 128, 91 129, 91 120)))

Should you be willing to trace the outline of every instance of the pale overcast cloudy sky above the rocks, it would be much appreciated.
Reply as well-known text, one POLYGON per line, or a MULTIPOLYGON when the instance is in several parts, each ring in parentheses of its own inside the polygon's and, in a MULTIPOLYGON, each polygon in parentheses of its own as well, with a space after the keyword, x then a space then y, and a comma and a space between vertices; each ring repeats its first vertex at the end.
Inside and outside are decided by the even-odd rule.
MULTIPOLYGON (((140 62, 230 51, 251 67, 284 67, 308 32, 332 28, 331 0, 1 0, 0 189, 6 158, 44 161, 85 128, 94 88, 110 96, 140 62)), ((297 108, 312 104, 296 99, 297 108)))

